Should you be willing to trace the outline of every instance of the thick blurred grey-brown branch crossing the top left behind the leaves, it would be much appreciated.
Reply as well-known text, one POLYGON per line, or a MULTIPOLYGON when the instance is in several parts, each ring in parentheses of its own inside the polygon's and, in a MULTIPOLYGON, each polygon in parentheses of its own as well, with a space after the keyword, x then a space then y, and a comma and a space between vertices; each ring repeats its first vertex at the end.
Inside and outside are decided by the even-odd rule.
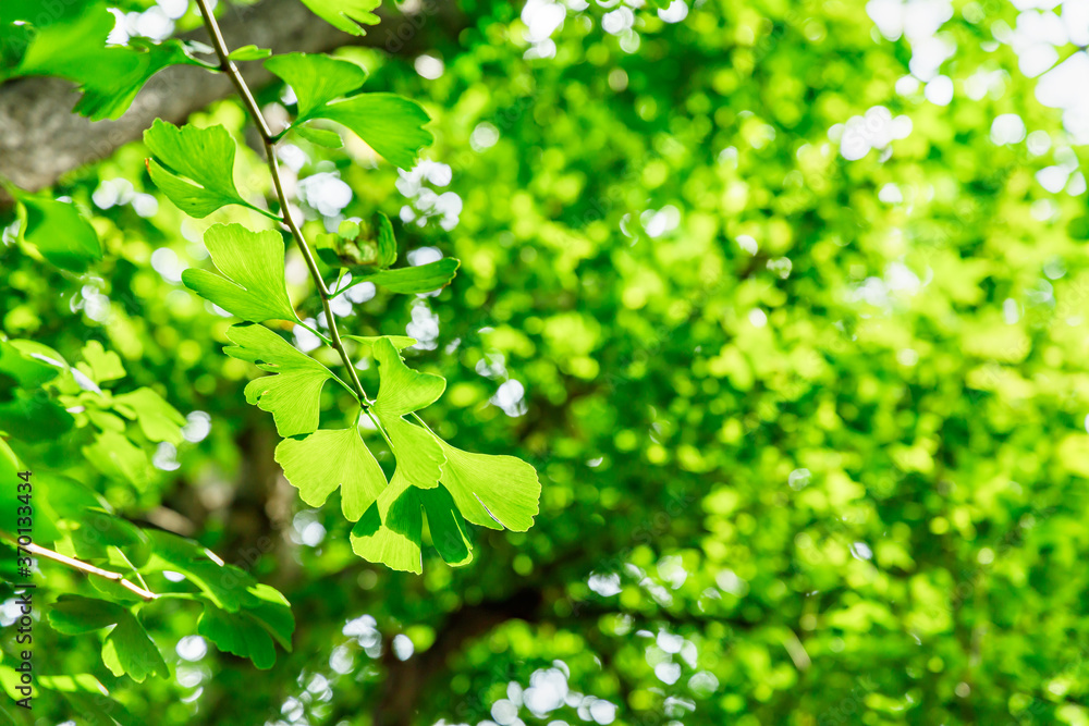
MULTIPOLYGON (((262 0, 231 8, 221 27, 231 47, 256 45, 273 52, 321 52, 345 45, 379 48, 414 56, 439 37, 456 38, 462 20, 452 2, 424 0, 414 15, 402 15, 384 3, 381 25, 362 38, 342 33, 314 15, 298 0, 262 0)), ((185 38, 207 42, 204 30, 185 38)), ((267 85, 272 75, 259 62, 245 63, 250 87, 267 85)), ((234 87, 225 75, 198 67, 168 67, 144 87, 132 108, 117 121, 91 123, 72 113, 79 95, 61 78, 19 78, 0 86, 0 176, 23 189, 37 190, 83 164, 111 156, 140 138, 155 119, 175 124, 195 111, 225 98, 234 87)), ((0 206, 10 204, 0 192, 0 206)))

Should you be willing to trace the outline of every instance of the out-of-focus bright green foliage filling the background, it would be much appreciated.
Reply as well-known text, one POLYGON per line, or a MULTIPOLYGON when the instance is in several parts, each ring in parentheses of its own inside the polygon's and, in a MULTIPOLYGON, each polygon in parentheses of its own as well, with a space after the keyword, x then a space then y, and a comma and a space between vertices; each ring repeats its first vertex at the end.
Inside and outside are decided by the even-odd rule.
MULTIPOLYGON (((1018 10, 950 8, 940 103, 944 82, 909 77, 922 41, 861 3, 706 0, 676 23, 546 4, 462 0, 465 29, 420 58, 335 53, 425 106, 414 170, 350 134, 282 152, 309 237, 383 212, 401 255, 462 261, 438 295, 364 282, 338 315, 421 342, 406 360, 448 381, 437 434, 540 472, 534 529, 474 530, 466 567, 360 561, 338 495, 309 508, 282 478, 252 367, 221 352, 231 320, 181 283, 210 264, 208 226, 264 229, 257 212, 186 218, 133 144, 53 189, 101 242, 85 273, 8 227, 5 336, 89 369, 115 354, 115 393, 186 419, 176 445, 122 422, 155 465, 138 483, 60 414, 63 436, 5 415, 12 448, 137 531, 196 539, 296 620, 258 674, 206 648, 191 604, 157 602, 171 677, 134 685, 39 618, 35 717, 108 723, 100 682, 140 724, 1089 723, 1089 217, 1080 149, 995 39, 1018 10), (566 17, 540 37, 530 11, 566 17)), ((368 32, 412 36, 429 10, 368 32)), ((259 98, 270 120, 290 100, 259 98)), ((231 131, 237 188, 266 205, 242 107, 192 121, 231 131)), ((286 266, 316 318, 294 247, 286 266)), ((102 585, 40 568, 39 608, 102 585)))

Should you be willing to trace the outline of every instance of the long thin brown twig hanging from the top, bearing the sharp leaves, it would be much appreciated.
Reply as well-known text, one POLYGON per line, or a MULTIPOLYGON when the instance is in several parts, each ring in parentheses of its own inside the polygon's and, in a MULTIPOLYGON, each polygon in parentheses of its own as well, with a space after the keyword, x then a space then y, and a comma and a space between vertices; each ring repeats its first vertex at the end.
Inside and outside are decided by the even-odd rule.
POLYGON ((254 95, 249 91, 249 86, 246 85, 245 78, 238 73, 237 66, 230 59, 230 51, 227 48, 227 41, 223 39, 223 33, 219 29, 219 23, 216 22, 216 16, 212 14, 211 9, 208 7, 208 0, 197 0, 197 8, 200 9, 200 16, 204 19, 205 27, 208 29, 208 36, 211 38, 211 44, 216 48, 216 54, 219 57, 220 70, 227 74, 234 84, 235 89, 238 91, 238 97, 242 99, 243 104, 246 107, 246 111, 249 113, 257 126, 257 131, 261 135, 261 141, 265 144, 265 157, 268 160, 269 173, 272 175, 272 186, 276 187, 277 199, 280 201, 280 214, 278 218, 280 223, 283 224, 291 232, 295 242, 298 244, 298 249, 303 254, 303 260, 306 262, 306 269, 310 272, 310 278, 314 279, 314 284, 318 288, 318 295, 321 297, 321 309, 326 313, 326 327, 329 329, 330 341, 329 344, 337 349, 340 354, 341 360, 344 362, 344 367, 347 368, 348 377, 352 381, 352 386, 354 389, 354 395, 359 399, 359 405, 364 408, 369 408, 371 401, 367 397, 367 392, 363 390, 363 383, 359 382, 359 374, 355 370, 355 366, 352 364, 351 357, 347 355, 347 350, 344 348, 344 342, 341 340, 340 330, 337 328, 337 319, 333 317, 333 311, 330 306, 332 296, 330 295, 329 287, 326 285, 325 280, 321 279, 321 272, 318 270, 318 261, 314 257, 314 251, 310 246, 306 243, 306 237, 303 236, 303 231, 298 229, 295 220, 291 216, 291 207, 287 204, 287 195, 283 189, 283 182, 280 179, 280 162, 277 160, 276 156, 276 145, 280 139, 282 134, 273 134, 269 128, 268 122, 265 121, 265 116, 261 114, 260 107, 257 106, 257 100, 254 95))

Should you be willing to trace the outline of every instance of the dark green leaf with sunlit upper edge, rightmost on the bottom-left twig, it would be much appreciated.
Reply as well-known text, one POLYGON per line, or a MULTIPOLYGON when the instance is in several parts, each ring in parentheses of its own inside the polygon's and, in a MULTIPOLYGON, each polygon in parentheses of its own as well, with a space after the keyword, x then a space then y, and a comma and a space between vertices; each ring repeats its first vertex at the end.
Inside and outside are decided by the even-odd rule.
POLYGON ((248 657, 258 668, 267 669, 276 663, 273 639, 291 651, 295 618, 287 601, 272 588, 258 585, 250 592, 259 604, 245 611, 230 613, 210 603, 205 605, 197 632, 221 651, 248 657))

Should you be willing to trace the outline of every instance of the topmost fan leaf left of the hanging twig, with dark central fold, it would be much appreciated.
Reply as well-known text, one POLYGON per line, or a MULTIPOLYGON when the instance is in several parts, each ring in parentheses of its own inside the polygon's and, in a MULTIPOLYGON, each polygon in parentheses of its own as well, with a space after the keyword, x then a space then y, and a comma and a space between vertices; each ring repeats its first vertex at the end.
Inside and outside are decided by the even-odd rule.
POLYGON ((234 139, 221 125, 179 128, 156 119, 144 132, 144 143, 158 158, 149 159, 151 181, 179 209, 207 217, 220 207, 242 205, 269 216, 242 198, 234 186, 234 139))

